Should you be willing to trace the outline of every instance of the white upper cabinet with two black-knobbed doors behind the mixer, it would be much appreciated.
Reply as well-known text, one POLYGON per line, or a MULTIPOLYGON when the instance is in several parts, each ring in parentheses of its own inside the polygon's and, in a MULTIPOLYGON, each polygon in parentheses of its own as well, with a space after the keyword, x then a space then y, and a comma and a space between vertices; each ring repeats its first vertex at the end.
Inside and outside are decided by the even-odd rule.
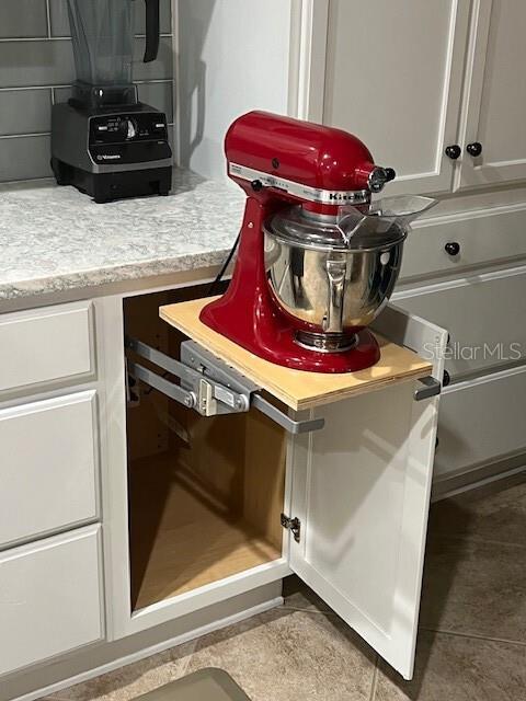
POLYGON ((266 42, 272 65, 266 61, 266 72, 247 84, 242 100, 231 56, 214 60, 222 44, 239 56, 254 53, 254 35, 239 31, 243 18, 235 3, 224 0, 211 14, 205 5, 181 4, 183 32, 192 15, 207 35, 203 50, 195 50, 190 35, 180 37, 179 136, 183 156, 197 153, 198 172, 220 174, 217 157, 229 123, 258 107, 355 134, 377 163, 398 173, 389 183, 393 195, 526 180, 524 2, 284 1, 282 13, 266 11, 258 25, 256 39, 266 42), (194 124, 206 125, 206 133, 195 136, 194 124), (482 152, 472 157, 468 145, 479 142, 482 152))

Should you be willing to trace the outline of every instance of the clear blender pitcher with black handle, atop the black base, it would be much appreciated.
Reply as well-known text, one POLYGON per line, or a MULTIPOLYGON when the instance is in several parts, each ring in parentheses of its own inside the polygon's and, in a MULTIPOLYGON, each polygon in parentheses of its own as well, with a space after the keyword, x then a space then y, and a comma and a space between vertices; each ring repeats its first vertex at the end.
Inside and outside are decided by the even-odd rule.
MULTIPOLYGON (((134 10, 140 0, 68 0, 77 81, 73 100, 83 105, 136 104, 133 83, 134 10)), ((145 0, 144 61, 159 50, 159 0, 145 0)))

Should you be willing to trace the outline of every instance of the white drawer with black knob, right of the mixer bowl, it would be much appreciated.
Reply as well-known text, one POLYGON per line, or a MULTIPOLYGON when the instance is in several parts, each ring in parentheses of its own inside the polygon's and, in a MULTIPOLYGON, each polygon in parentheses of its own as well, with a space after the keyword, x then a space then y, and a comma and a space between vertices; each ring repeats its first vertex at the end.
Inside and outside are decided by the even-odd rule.
POLYGON ((400 279, 526 257, 525 229, 525 208, 416 222, 403 250, 400 279), (458 244, 456 255, 446 251, 450 243, 458 244))

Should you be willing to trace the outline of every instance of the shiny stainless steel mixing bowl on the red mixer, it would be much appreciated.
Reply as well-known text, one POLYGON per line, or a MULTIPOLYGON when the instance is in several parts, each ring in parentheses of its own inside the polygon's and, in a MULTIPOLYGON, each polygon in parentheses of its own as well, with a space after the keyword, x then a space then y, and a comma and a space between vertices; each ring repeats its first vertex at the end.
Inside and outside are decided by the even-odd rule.
POLYGON ((282 308, 300 322, 301 345, 327 352, 352 347, 355 332, 389 300, 407 230, 367 220, 348 238, 334 220, 306 217, 300 208, 266 222, 268 281, 282 308))

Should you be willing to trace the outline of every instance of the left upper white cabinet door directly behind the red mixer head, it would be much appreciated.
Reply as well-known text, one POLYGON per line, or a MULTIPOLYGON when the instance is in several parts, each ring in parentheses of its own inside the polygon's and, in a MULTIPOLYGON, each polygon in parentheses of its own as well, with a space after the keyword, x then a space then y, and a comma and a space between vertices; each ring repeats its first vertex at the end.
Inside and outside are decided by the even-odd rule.
POLYGON ((469 0, 329 3, 323 111, 309 116, 355 134, 393 168, 389 194, 451 188, 445 148, 456 143, 468 20, 469 0))

